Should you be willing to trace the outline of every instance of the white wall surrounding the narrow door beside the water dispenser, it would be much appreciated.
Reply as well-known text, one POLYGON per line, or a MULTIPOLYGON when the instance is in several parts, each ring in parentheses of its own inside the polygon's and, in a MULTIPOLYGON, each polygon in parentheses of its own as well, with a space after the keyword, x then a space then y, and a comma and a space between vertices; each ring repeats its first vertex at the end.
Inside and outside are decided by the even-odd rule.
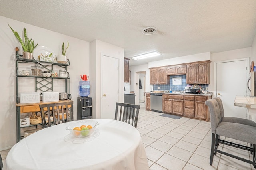
MULTIPOLYGON (((101 55, 119 59, 119 102, 124 102, 124 49, 115 45, 94 40, 91 42, 91 94, 92 118, 101 118, 101 55)), ((111 67, 111 65, 109 65, 111 67)), ((109 81, 111 81, 109 75, 109 81)))

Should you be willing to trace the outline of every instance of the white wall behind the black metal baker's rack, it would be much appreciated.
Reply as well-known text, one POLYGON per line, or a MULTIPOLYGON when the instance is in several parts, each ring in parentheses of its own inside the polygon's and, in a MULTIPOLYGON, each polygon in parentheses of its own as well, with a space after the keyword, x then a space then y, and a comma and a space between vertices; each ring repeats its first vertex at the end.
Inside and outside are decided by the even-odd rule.
MULTIPOLYGON (((71 63, 68 67, 68 72, 70 73, 70 93, 74 101, 75 113, 77 111, 76 98, 78 97, 80 74, 90 75, 89 42, 0 16, 0 49, 2 59, 0 63, 0 72, 2 73, 2 83, 0 83, 0 150, 8 149, 16 144, 15 47, 19 47, 20 53, 22 53, 20 43, 15 38, 8 24, 20 36, 23 35, 25 27, 28 38, 34 39, 39 46, 51 48, 56 55, 61 54, 62 43, 69 42, 70 47, 67 49, 66 55, 71 63)), ((20 90, 34 91, 34 80, 24 80, 20 90)), ((54 83, 54 91, 59 90, 60 92, 63 91, 62 85, 54 83)), ((76 120, 76 114, 74 114, 74 120, 76 120)))

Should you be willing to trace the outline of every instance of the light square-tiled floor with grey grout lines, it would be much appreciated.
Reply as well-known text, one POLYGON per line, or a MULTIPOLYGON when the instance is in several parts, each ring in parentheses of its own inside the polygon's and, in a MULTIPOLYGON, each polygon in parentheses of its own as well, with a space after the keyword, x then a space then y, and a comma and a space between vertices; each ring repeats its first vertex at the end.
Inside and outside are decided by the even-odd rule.
MULTIPOLYGON (((255 170, 251 164, 219 153, 210 166, 210 122, 163 117, 160 116, 162 113, 146 111, 144 103, 140 105, 137 129, 145 146, 150 170, 255 170)), ((222 144, 219 148, 252 160, 250 153, 244 150, 223 147, 222 144)), ((1 152, 4 164, 8 152, 1 152)))

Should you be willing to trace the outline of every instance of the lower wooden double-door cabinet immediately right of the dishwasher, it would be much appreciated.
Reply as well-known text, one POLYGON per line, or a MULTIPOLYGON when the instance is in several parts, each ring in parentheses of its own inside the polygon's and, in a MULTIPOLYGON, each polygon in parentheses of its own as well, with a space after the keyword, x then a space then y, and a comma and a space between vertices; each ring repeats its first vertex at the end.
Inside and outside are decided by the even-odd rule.
POLYGON ((163 113, 183 115, 184 95, 163 95, 163 113))

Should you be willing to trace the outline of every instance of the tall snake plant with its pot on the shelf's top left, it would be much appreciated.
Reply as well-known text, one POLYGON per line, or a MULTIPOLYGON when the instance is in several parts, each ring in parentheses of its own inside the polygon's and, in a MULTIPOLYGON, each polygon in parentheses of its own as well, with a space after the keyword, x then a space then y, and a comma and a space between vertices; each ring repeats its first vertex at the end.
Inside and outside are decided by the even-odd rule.
POLYGON ((18 32, 14 31, 9 24, 8 24, 8 26, 11 28, 14 36, 18 39, 18 41, 20 42, 20 44, 22 46, 22 49, 24 51, 23 52, 23 58, 25 58, 25 59, 34 59, 32 53, 33 53, 34 48, 37 47, 38 43, 36 45, 34 45, 34 40, 29 39, 27 37, 26 28, 24 28, 24 39, 25 39, 25 41, 23 41, 20 38, 20 35, 18 34, 18 32))

